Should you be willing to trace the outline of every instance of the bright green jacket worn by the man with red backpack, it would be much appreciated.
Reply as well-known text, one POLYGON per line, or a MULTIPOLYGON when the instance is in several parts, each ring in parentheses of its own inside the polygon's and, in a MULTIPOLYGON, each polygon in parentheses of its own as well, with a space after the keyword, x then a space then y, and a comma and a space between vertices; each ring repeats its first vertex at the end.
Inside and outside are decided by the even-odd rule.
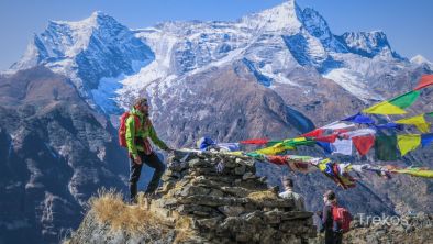
POLYGON ((137 145, 136 141, 144 141, 147 137, 151 137, 152 142, 155 143, 159 148, 167 149, 168 146, 158 138, 156 135, 155 129, 152 124, 145 126, 146 117, 135 108, 132 108, 130 111, 130 117, 126 119, 126 145, 130 154, 135 157, 138 156, 137 151, 144 152, 143 145, 137 145), (133 115, 137 115, 140 118, 140 122, 142 125, 137 131, 135 131, 135 119, 133 115), (142 140, 140 140, 142 138, 142 140))

